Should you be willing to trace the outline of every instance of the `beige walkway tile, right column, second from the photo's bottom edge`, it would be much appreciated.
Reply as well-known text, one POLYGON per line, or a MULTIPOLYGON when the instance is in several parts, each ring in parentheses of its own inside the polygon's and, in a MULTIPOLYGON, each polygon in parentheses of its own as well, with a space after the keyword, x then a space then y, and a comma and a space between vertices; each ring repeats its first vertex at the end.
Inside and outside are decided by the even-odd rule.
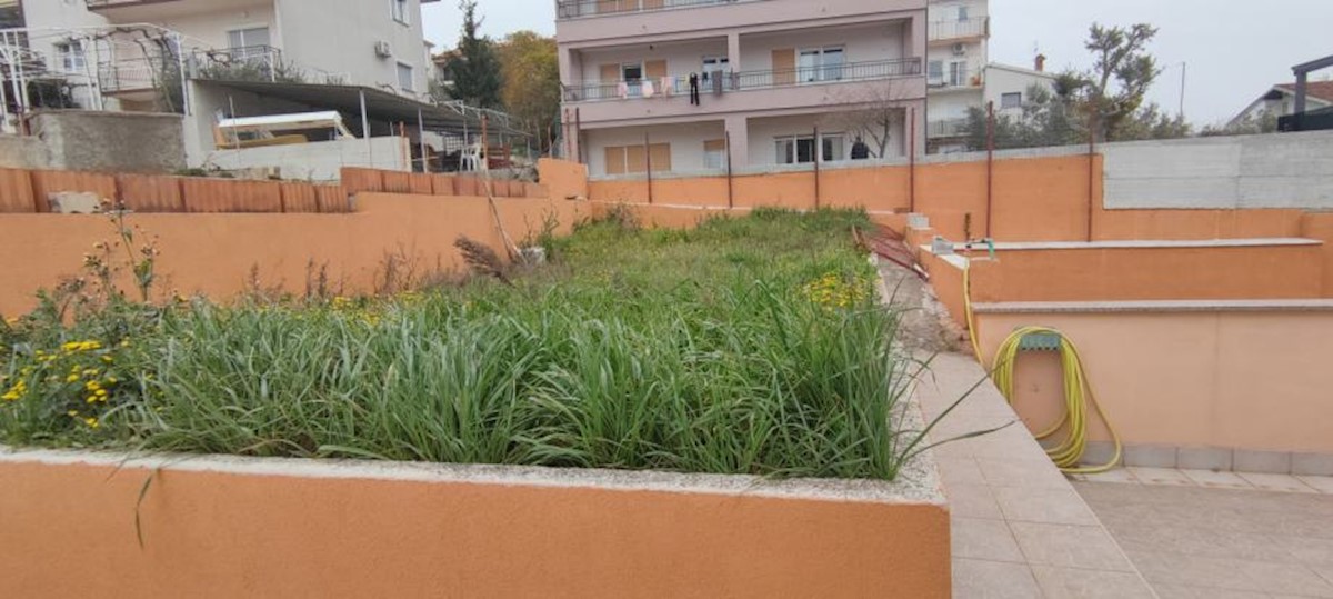
POLYGON ((1134 571, 1120 546, 1100 526, 1013 522, 1009 527, 1022 555, 1033 566, 1134 571))

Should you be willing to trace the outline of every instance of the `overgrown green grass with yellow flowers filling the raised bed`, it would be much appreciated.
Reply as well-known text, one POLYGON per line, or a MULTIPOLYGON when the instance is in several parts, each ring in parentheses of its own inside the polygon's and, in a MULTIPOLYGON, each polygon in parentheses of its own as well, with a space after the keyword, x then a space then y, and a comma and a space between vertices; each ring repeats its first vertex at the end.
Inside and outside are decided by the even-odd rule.
MULTIPOLYGON (((893 479, 910 362, 857 212, 551 241, 513 287, 0 328, 11 444, 893 479), (63 346, 71 342, 92 342, 63 346), (40 354, 39 354, 40 352, 40 354), (21 382, 21 386, 20 386, 21 382), (15 390, 17 390, 15 392, 15 390), (97 394, 96 390, 104 390, 97 394)), ((48 312, 53 308, 48 304, 48 312)))

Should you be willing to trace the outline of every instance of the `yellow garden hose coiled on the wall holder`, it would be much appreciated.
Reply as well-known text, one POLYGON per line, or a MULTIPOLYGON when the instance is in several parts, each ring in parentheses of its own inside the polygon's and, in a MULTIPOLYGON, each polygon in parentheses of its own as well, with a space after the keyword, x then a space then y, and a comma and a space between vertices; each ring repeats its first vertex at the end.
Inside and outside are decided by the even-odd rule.
MULTIPOLYGON (((981 358, 981 346, 977 340, 976 318, 972 311, 970 260, 968 260, 968 265, 964 265, 962 268, 962 296, 968 319, 968 336, 972 340, 972 351, 976 354, 977 362, 985 363, 981 358)), ((1060 338, 1060 364, 1064 370, 1065 411, 1054 424, 1041 430, 1041 432, 1036 436, 1038 440, 1046 440, 1060 434, 1060 431, 1065 431, 1065 436, 1053 447, 1049 447, 1046 450, 1046 455, 1049 455, 1050 460, 1054 462, 1056 466, 1065 474, 1106 472, 1120 466, 1120 459, 1124 455, 1124 444, 1120 442, 1120 434, 1116 432, 1116 427, 1112 426, 1109 419, 1106 419, 1106 414, 1101 410, 1101 404, 1097 403, 1097 398, 1093 396, 1092 386, 1088 383, 1088 375, 1084 371, 1082 358, 1078 355, 1078 348, 1074 347, 1073 342, 1070 342, 1062 332, 1048 327, 1024 327, 1009 335, 1009 338, 1005 339, 996 351, 992 367, 992 378, 994 379, 1000 394, 1005 396, 1010 406, 1013 404, 1013 366, 1018 359, 1018 350, 1022 344, 1022 339, 1028 335, 1056 335, 1060 338), (1110 431, 1110 440, 1116 446, 1116 452, 1110 462, 1101 466, 1080 466, 1084 454, 1088 451, 1088 406, 1092 406, 1093 411, 1097 412, 1097 418, 1106 424, 1106 430, 1110 431)))

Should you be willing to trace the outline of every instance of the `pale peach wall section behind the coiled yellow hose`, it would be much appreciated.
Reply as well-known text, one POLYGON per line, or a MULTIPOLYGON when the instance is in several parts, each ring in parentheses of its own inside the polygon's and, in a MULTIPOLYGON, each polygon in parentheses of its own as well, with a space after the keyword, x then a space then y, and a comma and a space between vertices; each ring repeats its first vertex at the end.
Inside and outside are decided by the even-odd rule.
MULTIPOLYGON (((986 364, 1013 330, 1054 327, 1082 354, 1093 392, 1130 444, 1333 454, 1333 311, 978 315, 986 364)), ((1016 364, 1017 410, 1054 422, 1054 355, 1016 364)), ((1100 422, 1093 440, 1106 440, 1100 422)))

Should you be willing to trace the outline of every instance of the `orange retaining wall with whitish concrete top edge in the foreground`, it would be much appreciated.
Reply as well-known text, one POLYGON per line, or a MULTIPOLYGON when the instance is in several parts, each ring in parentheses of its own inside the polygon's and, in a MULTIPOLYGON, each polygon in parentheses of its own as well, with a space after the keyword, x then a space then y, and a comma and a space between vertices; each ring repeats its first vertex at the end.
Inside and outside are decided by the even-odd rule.
POLYGON ((188 458, 136 510, 157 464, 117 466, 0 454, 0 596, 950 591, 946 507, 890 486, 188 458))

